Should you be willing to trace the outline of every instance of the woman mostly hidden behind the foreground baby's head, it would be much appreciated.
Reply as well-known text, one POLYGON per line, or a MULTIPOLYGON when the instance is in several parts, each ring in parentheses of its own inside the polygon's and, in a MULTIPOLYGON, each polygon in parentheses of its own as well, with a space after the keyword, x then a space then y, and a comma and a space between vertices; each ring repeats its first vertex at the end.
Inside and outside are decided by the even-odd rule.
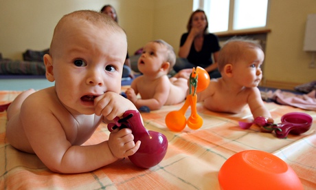
MULTIPOLYGON (((115 8, 111 5, 105 5, 102 7, 100 12, 109 15, 115 22, 118 23, 117 14, 115 8)), ((133 72, 131 70, 131 60, 129 59, 128 52, 126 53, 126 59, 123 67, 123 78, 131 77, 134 78, 133 72)))

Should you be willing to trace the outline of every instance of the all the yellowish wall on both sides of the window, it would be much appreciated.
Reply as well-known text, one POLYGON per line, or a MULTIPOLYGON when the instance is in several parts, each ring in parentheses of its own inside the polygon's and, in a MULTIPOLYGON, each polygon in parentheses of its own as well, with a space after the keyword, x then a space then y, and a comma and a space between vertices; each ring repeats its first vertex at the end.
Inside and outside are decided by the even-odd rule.
MULTIPOLYGON (((43 50, 49 47, 54 27, 64 14, 100 10, 108 3, 117 10, 119 24, 126 31, 129 54, 154 39, 167 41, 178 52, 192 0, 0 0, 0 52, 5 58, 22 59, 26 49, 43 50)), ((316 80, 316 69, 308 68, 311 54, 303 51, 306 18, 311 13, 316 13, 315 0, 271 0, 266 81, 316 80)))

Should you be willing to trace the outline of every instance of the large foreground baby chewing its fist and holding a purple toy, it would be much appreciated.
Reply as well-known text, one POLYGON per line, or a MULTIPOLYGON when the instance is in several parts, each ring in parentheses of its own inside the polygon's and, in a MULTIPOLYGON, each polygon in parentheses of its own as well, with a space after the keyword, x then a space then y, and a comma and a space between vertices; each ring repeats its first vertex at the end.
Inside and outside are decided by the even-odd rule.
POLYGON ((8 107, 10 145, 58 173, 93 171, 133 155, 141 142, 131 129, 82 146, 100 123, 137 110, 120 95, 126 52, 124 30, 106 14, 81 10, 60 19, 44 56, 46 78, 55 85, 22 92, 8 107))

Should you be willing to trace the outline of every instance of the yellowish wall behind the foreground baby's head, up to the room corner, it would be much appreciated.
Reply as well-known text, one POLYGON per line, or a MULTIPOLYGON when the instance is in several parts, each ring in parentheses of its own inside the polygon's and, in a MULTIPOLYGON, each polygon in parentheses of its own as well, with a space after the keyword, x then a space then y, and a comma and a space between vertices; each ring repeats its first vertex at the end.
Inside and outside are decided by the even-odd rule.
POLYGON ((100 11, 106 4, 117 10, 119 24, 128 34, 128 49, 132 51, 153 36, 153 3, 146 0, 0 0, 0 52, 5 58, 22 60, 22 53, 27 49, 49 47, 55 25, 63 15, 82 9, 100 11))

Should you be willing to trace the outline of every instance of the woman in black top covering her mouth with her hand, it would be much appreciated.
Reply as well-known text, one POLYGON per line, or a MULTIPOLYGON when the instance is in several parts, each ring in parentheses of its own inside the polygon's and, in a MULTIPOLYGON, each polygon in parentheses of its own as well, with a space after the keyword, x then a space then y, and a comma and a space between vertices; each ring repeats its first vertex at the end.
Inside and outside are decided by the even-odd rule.
POLYGON ((221 77, 217 69, 218 52, 221 49, 218 37, 207 31, 208 21, 203 10, 192 12, 188 21, 188 32, 182 34, 179 59, 173 69, 178 75, 188 75, 192 67, 203 67, 211 78, 221 77), (214 58, 214 61, 212 59, 214 58))

